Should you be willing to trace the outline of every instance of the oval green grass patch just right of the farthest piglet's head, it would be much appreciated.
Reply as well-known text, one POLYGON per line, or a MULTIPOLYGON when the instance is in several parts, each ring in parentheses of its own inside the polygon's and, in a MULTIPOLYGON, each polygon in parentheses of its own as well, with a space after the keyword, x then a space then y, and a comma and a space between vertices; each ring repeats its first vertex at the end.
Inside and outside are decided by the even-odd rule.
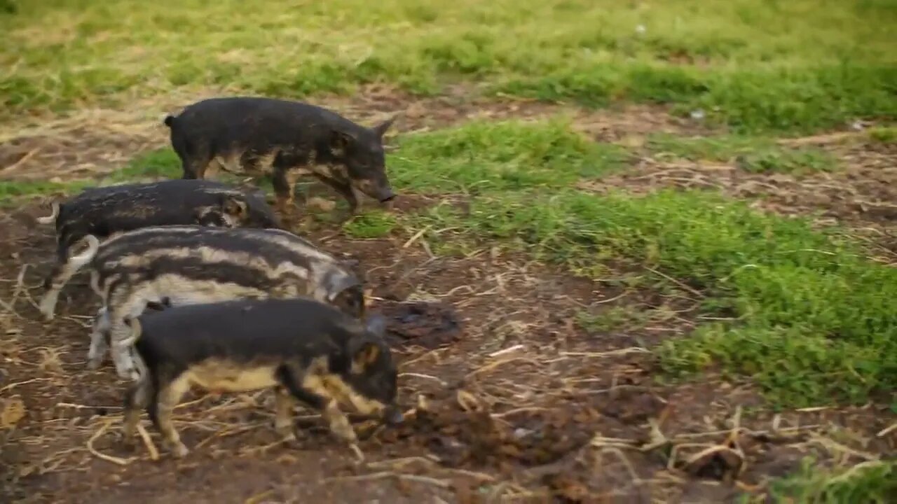
POLYGON ((560 118, 475 121, 398 139, 389 177, 403 189, 463 192, 558 188, 599 178, 629 159, 623 147, 594 143, 560 118))

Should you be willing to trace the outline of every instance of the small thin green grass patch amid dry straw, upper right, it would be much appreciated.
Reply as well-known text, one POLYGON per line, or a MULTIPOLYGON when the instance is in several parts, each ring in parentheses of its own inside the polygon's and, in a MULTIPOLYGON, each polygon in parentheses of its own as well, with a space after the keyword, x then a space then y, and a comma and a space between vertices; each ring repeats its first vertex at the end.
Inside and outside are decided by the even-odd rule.
POLYGON ((661 155, 692 161, 735 162, 752 173, 803 175, 838 169, 838 160, 830 152, 818 147, 785 147, 767 137, 652 135, 648 147, 661 155))

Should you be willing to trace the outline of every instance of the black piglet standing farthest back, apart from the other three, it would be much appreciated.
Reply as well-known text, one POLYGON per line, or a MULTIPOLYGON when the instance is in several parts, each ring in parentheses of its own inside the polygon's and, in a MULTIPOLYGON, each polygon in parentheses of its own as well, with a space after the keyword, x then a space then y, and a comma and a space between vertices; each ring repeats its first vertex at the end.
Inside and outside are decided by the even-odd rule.
POLYGON ((301 101, 237 96, 197 101, 164 123, 184 178, 205 178, 216 169, 270 175, 280 209, 290 212, 297 179, 311 176, 343 196, 355 213, 358 192, 380 203, 396 196, 383 147, 394 119, 366 127, 301 101))

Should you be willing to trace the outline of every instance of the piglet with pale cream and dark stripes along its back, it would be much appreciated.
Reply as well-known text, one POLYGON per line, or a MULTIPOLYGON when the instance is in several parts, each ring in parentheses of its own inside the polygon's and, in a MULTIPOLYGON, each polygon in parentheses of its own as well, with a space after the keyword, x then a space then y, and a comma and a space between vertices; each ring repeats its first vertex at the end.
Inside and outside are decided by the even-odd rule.
POLYGON ((88 241, 91 288, 102 300, 88 367, 100 367, 109 335, 120 378, 135 378, 126 348, 117 343, 126 339, 124 319, 152 303, 308 296, 354 317, 364 314, 362 284, 352 266, 286 230, 158 226, 102 244, 90 235, 88 241))

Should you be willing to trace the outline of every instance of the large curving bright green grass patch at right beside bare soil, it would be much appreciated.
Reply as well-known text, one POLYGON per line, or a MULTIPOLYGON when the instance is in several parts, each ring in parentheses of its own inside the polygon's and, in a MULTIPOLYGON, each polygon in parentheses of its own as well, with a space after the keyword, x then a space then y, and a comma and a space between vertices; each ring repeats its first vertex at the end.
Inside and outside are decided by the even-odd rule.
POLYGON ((808 222, 701 192, 571 190, 481 196, 467 213, 440 206, 419 220, 580 273, 624 260, 705 291, 703 309, 734 320, 663 344, 661 363, 674 375, 718 366, 752 376, 779 404, 862 402, 897 387, 897 270, 808 222))

